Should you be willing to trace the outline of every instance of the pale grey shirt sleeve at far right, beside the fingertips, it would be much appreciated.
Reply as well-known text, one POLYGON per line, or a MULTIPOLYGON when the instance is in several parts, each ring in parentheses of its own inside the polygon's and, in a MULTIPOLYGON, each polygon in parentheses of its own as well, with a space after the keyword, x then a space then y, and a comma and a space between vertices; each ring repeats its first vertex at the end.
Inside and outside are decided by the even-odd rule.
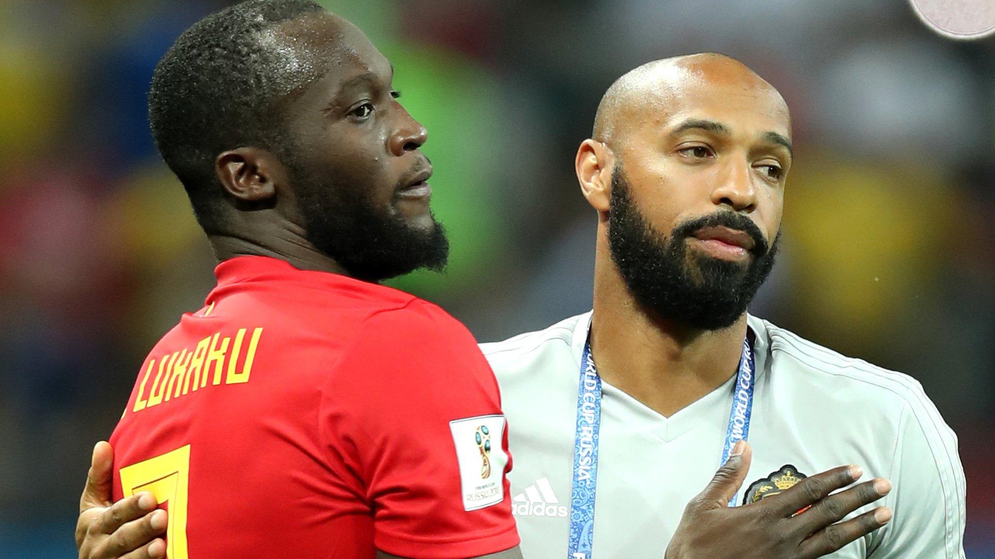
POLYGON ((957 437, 921 391, 913 394, 898 424, 894 512, 869 557, 964 559, 966 487, 957 437))

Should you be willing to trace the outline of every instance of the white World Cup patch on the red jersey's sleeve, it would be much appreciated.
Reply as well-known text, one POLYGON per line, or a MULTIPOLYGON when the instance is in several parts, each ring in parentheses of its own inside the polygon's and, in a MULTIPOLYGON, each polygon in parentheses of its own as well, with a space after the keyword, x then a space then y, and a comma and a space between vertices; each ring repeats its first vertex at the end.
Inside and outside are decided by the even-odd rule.
POLYGON ((504 416, 449 422, 460 465, 463 507, 477 510, 504 500, 504 416))

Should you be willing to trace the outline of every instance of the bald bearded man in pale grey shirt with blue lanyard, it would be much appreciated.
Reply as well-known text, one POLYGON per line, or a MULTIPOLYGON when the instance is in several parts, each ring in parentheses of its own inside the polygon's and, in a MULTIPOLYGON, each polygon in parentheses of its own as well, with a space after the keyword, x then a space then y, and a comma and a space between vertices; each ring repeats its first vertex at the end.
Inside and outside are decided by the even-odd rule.
MULTIPOLYGON (((481 346, 513 426, 524 557, 963 557, 956 441, 919 385, 746 312, 790 138, 780 94, 720 55, 605 94, 575 162, 598 219, 594 309, 481 346)), ((106 507, 99 462, 81 557, 152 556, 147 503, 106 507)))

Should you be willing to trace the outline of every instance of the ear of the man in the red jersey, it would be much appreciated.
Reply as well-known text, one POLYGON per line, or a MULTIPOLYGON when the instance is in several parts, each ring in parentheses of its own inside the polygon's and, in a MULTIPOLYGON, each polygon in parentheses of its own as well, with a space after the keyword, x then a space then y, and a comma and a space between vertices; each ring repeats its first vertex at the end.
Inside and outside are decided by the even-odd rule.
POLYGON ((270 200, 277 195, 277 185, 287 182, 284 164, 258 147, 225 151, 215 159, 214 170, 225 191, 245 202, 270 200))

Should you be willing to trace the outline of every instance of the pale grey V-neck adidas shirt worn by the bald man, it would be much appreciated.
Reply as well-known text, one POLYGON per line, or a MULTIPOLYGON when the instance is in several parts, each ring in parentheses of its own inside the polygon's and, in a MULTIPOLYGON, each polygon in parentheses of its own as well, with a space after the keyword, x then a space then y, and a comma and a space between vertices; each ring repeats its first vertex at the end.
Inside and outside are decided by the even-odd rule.
MULTIPOLYGON (((500 385, 525 559, 566 559, 580 359, 591 313, 481 344, 500 385)), ((895 515, 828 557, 963 559, 957 439, 912 378, 844 357, 754 316, 753 462, 737 502, 856 464, 888 477, 895 515), (748 494, 747 494, 748 493, 748 494)), ((730 371, 730 375, 732 371, 730 371)), ((603 383, 594 559, 658 559, 721 459, 734 376, 665 418, 603 383)), ((853 515, 870 510, 859 509, 853 515)))

